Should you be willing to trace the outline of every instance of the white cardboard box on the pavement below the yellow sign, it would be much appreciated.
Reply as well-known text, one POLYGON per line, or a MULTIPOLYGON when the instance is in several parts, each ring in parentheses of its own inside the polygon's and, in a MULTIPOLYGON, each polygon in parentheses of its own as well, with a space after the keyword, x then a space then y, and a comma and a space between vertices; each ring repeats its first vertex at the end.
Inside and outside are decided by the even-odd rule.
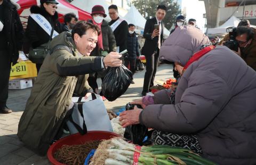
POLYGON ((25 89, 32 86, 31 78, 9 80, 9 89, 25 89))

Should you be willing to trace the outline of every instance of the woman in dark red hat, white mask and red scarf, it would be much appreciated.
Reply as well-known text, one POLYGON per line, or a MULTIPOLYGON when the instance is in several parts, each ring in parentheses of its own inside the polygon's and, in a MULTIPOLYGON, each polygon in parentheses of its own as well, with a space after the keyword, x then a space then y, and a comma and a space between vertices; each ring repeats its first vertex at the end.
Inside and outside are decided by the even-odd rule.
MULTIPOLYGON (((92 51, 91 56, 105 56, 109 52, 116 52, 116 40, 114 33, 108 25, 108 22, 103 19, 107 16, 103 6, 93 6, 91 15, 92 20, 89 20, 89 22, 97 24, 97 26, 101 29, 101 34, 98 36, 98 43, 96 45, 96 48, 92 51)), ((90 74, 90 77, 88 79, 89 85, 92 87, 93 92, 96 94, 100 94, 101 96, 102 92, 99 93, 97 78, 100 77, 101 80, 103 80, 106 73, 107 70, 103 72, 96 72, 90 74)), ((102 99, 104 101, 106 100, 104 96, 102 96, 102 99)))

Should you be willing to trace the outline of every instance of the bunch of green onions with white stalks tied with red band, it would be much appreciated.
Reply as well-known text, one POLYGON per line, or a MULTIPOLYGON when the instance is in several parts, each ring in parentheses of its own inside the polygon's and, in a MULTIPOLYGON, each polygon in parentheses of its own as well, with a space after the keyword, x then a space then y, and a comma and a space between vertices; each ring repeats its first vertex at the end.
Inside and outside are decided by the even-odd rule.
POLYGON ((134 153, 139 153, 139 165, 197 165, 216 163, 202 158, 191 150, 172 147, 169 145, 142 146, 141 150, 135 145, 127 143, 123 138, 116 137, 102 141, 95 151, 90 165, 128 165, 133 164, 134 153))

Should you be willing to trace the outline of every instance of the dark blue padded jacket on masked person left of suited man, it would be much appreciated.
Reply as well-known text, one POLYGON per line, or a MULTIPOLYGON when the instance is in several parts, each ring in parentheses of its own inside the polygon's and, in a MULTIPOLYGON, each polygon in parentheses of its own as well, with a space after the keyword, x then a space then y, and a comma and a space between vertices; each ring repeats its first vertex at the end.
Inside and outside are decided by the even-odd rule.
POLYGON ((136 59, 140 55, 138 38, 135 32, 127 36, 127 51, 129 59, 136 59))

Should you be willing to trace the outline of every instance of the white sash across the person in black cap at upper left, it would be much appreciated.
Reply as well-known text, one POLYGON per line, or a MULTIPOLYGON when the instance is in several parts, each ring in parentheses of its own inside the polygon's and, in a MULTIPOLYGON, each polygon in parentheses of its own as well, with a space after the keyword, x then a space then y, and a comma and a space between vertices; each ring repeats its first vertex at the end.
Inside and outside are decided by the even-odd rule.
MULTIPOLYGON (((43 15, 41 14, 30 14, 31 18, 33 18, 36 23, 39 24, 39 26, 41 28, 44 29, 45 32, 47 32, 47 34, 49 34, 49 36, 51 36, 51 31, 52 31, 52 26, 51 24, 49 23, 49 21, 47 21, 43 15)), ((52 38, 58 36, 58 32, 53 30, 53 35, 52 35, 52 38)))

